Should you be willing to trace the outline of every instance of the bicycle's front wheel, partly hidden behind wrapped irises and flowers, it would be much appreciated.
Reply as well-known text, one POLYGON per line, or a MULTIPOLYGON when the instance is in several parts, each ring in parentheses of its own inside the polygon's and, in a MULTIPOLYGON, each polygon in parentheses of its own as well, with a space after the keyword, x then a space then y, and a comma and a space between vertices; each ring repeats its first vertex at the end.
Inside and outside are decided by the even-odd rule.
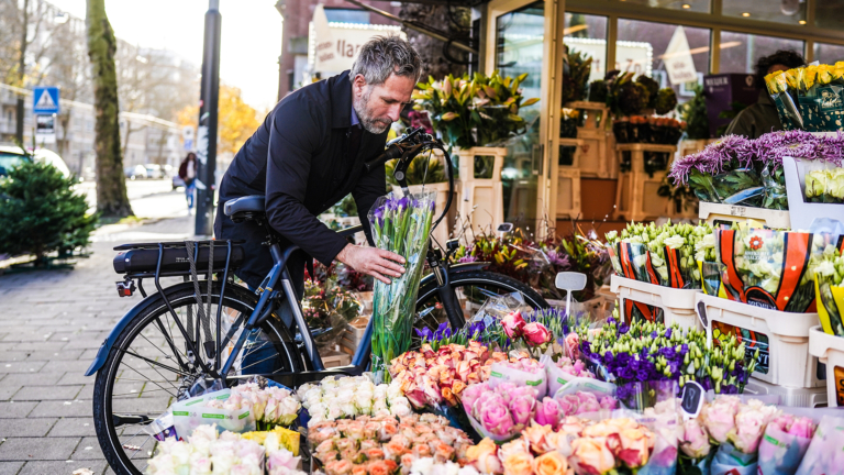
MULTIPOLYGON (((551 307, 542 296, 528 284, 506 275, 487 270, 454 273, 448 276, 457 300, 463 311, 464 320, 468 321, 484 305, 487 297, 519 292, 525 303, 538 309, 551 307)), ((419 288, 417 297, 417 317, 413 328, 430 329, 432 332, 442 323, 448 323, 445 308, 440 301, 436 281, 431 281, 419 288)), ((414 332, 413 346, 418 347, 421 340, 414 332)))

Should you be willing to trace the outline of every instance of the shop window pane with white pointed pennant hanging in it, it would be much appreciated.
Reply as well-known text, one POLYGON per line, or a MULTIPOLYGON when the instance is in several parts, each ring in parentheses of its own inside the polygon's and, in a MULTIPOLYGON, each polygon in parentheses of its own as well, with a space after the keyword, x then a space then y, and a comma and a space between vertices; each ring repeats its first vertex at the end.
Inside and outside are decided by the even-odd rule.
POLYGON ((686 102, 695 96, 689 84, 709 73, 710 33, 709 29, 619 19, 615 69, 651 76, 686 102))

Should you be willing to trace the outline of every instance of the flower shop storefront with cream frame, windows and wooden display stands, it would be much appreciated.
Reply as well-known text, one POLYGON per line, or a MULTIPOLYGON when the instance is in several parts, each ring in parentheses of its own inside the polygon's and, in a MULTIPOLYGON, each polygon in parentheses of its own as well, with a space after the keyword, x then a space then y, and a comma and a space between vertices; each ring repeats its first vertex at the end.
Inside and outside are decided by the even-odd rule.
POLYGON ((478 69, 513 78, 528 73, 522 96, 541 98, 520 109, 530 125, 507 144, 503 220, 542 232, 555 219, 697 219, 697 198, 671 189, 667 179, 671 162, 722 136, 730 120, 757 100, 751 75, 759 57, 790 49, 807 64, 844 59, 844 13, 834 4, 492 0, 480 5, 478 69), (613 84, 595 84, 612 70, 621 71, 613 84), (719 81, 726 86, 719 89, 719 81), (641 104, 632 82, 649 89, 641 104), (725 96, 715 97, 724 89, 725 96))

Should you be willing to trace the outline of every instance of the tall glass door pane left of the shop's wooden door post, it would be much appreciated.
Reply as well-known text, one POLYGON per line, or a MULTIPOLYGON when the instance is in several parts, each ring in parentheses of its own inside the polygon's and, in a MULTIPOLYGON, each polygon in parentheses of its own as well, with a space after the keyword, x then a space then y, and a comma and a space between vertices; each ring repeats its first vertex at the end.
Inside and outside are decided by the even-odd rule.
MULTIPOLYGON (((522 96, 525 99, 542 97, 544 37, 543 1, 496 19, 496 69, 501 76, 512 78, 528 73, 522 82, 522 96)), ((525 122, 524 133, 507 143, 508 153, 501 170, 504 221, 530 233, 535 232, 536 223, 546 211, 538 202, 544 158, 540 121, 542 107, 546 106, 540 100, 519 111, 525 122)))

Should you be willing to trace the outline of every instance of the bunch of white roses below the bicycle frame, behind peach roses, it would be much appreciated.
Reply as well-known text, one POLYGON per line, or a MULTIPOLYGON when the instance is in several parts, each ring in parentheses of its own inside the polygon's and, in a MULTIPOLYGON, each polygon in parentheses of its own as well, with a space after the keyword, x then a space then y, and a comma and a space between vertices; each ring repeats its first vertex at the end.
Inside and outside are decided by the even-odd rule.
POLYGON ((373 383, 371 374, 323 379, 319 385, 304 384, 296 391, 302 407, 308 409, 311 427, 318 422, 356 416, 409 416, 410 401, 398 384, 373 383))

